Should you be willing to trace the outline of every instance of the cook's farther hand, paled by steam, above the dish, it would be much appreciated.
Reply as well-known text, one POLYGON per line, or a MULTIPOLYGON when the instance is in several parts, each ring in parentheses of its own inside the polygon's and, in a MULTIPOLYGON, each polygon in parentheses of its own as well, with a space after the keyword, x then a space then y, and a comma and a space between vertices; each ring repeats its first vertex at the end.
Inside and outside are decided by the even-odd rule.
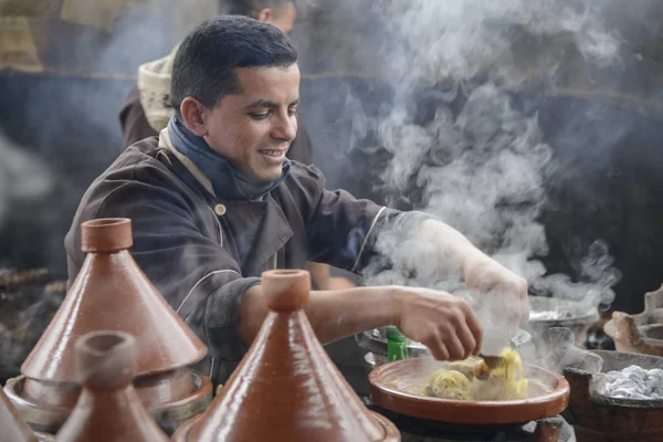
POLYGON ((465 285, 492 311, 495 326, 517 327, 529 318, 527 281, 483 253, 471 254, 463 265, 465 285))

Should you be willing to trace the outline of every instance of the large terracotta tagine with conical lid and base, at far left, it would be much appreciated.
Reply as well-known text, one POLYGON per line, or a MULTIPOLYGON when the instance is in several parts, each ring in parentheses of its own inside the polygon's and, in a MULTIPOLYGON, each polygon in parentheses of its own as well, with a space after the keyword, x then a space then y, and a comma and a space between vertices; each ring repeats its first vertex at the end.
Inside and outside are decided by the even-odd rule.
POLYGON ((55 317, 23 362, 23 376, 6 391, 25 421, 50 433, 69 417, 80 396, 75 341, 99 329, 136 338, 134 386, 157 422, 172 432, 203 411, 212 397, 209 378, 188 366, 207 348, 140 271, 128 249, 128 219, 99 219, 82 225, 81 272, 55 317))

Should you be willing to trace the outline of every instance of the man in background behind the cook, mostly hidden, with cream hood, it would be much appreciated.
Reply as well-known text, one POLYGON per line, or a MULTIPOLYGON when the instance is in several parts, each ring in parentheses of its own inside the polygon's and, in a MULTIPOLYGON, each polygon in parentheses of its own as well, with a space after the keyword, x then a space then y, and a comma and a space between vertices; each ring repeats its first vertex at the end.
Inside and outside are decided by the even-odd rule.
MULTIPOLYGON (((295 22, 293 0, 227 0, 228 12, 246 15, 271 23, 290 35, 295 22)), ((138 84, 131 88, 125 106, 119 113, 124 134, 124 148, 161 131, 175 114, 170 105, 170 72, 177 46, 167 56, 145 63, 138 69, 138 84)), ((287 157, 305 165, 313 164, 311 137, 299 120, 297 137, 293 140, 287 157)), ((320 290, 349 288, 354 284, 345 277, 332 277, 329 267, 308 263, 314 285, 320 290)))

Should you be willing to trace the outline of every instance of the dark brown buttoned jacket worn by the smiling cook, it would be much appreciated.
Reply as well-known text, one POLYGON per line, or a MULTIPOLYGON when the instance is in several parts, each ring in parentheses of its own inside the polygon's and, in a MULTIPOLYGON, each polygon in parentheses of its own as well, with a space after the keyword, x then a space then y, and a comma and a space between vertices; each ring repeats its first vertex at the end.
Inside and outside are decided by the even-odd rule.
POLYGON ((324 188, 313 166, 292 172, 263 201, 212 196, 157 137, 128 147, 85 192, 65 239, 70 284, 83 264, 81 223, 133 221, 131 254, 168 303, 206 341, 207 370, 224 381, 245 347, 241 295, 269 269, 306 261, 361 271, 381 224, 398 212, 324 188))

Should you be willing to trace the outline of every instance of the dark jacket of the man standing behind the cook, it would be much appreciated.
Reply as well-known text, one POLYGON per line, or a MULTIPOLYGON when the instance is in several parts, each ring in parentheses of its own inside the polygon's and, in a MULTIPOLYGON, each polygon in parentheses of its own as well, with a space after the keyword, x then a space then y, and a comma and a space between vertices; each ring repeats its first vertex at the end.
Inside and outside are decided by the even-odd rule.
MULTIPOLYGON (((119 113, 119 124, 124 135, 125 148, 147 137, 159 135, 152 129, 149 123, 147 123, 145 109, 140 104, 140 93, 136 86, 129 92, 125 105, 119 113)), ((304 118, 298 119, 298 125, 299 129, 297 130, 297 137, 291 144, 287 157, 306 166, 311 166, 313 164, 313 149, 304 118)))

